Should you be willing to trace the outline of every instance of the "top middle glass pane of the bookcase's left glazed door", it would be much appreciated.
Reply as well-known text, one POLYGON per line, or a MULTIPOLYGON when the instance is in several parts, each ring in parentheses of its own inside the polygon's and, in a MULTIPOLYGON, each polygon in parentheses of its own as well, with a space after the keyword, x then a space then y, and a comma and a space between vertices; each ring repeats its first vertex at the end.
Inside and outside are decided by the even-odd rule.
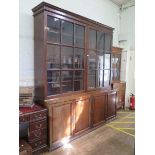
POLYGON ((62 21, 62 44, 73 45, 73 24, 62 21))

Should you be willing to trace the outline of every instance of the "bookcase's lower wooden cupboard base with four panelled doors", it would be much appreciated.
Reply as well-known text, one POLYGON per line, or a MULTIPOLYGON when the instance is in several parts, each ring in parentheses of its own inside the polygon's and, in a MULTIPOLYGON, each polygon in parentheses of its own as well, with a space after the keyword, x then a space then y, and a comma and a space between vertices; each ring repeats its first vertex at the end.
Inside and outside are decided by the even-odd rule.
POLYGON ((98 90, 46 100, 53 150, 116 117, 116 90, 98 90))

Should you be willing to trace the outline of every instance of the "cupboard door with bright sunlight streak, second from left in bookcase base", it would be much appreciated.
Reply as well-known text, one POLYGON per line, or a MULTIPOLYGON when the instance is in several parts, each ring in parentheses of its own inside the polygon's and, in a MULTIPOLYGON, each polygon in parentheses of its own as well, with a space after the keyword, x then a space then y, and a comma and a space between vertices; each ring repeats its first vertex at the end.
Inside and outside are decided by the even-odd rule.
POLYGON ((85 131, 90 128, 91 104, 88 99, 81 99, 74 104, 74 133, 85 131))

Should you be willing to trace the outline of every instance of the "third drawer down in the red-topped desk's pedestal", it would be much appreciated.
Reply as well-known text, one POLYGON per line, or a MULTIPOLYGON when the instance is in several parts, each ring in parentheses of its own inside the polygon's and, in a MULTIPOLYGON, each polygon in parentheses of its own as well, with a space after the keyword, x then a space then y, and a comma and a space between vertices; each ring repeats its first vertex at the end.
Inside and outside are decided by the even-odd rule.
POLYGON ((29 141, 33 141, 34 139, 46 138, 46 135, 47 135, 46 128, 31 131, 29 133, 29 141))

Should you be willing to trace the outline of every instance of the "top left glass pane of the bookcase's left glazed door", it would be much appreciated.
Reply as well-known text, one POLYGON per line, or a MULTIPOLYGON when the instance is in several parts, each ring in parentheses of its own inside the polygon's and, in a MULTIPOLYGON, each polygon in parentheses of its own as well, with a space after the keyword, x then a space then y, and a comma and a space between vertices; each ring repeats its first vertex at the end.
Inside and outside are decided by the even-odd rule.
POLYGON ((47 16, 47 41, 60 43, 60 20, 47 16))

